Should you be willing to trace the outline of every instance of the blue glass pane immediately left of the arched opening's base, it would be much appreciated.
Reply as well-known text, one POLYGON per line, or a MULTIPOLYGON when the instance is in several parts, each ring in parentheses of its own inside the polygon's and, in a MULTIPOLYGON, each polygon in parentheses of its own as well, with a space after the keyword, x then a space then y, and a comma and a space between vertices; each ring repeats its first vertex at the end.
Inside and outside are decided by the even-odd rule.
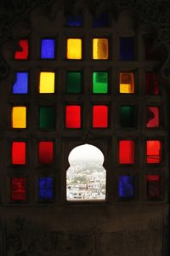
POLYGON ((38 197, 44 200, 53 198, 53 177, 39 177, 38 197))

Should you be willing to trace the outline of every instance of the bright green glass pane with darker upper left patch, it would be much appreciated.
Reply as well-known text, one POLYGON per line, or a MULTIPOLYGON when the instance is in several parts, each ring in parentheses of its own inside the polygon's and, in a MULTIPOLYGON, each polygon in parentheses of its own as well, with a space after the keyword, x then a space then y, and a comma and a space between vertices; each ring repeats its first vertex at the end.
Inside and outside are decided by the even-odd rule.
POLYGON ((93 93, 108 92, 108 73, 94 72, 93 73, 93 93))

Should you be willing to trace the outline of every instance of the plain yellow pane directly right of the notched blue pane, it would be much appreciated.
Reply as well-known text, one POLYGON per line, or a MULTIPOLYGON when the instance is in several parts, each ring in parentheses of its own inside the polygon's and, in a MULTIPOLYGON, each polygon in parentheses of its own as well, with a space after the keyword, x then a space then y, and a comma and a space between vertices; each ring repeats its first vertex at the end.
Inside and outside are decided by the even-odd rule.
POLYGON ((39 93, 54 93, 54 72, 41 72, 39 93))

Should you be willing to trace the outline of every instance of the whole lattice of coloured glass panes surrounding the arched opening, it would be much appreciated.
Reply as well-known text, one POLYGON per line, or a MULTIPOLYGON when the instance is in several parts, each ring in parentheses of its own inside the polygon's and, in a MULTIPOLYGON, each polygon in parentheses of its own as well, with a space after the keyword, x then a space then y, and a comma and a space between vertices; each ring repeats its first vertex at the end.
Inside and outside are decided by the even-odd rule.
MULTIPOLYGON (((157 172, 162 169, 165 161, 162 149, 165 137, 161 84, 158 83, 151 64, 150 68, 138 68, 134 62, 156 60, 153 51, 150 53, 150 41, 144 38, 144 57, 139 60, 138 40, 132 36, 117 35, 116 42, 119 47, 115 60, 112 52, 116 49, 111 39, 111 30, 114 28, 111 27, 109 16, 102 14, 92 19, 89 28, 92 36, 89 38, 83 32, 70 36, 70 32, 75 32, 75 28, 83 26, 85 22, 82 14, 67 15, 63 33, 60 35, 65 44, 65 52, 59 52, 62 46, 59 45, 57 35, 47 35, 46 38, 44 35, 39 36, 39 59, 37 67, 34 67, 37 76, 35 80, 29 65, 28 68, 22 68, 22 61, 31 63, 33 46, 30 39, 19 39, 14 61, 18 62, 17 67, 20 68, 15 69, 15 79, 10 90, 14 102, 10 105, 8 126, 15 132, 15 139, 11 139, 10 143, 10 163, 13 167, 22 168, 28 162, 33 162, 33 166, 41 166, 42 170, 52 169, 58 165, 59 160, 59 156, 56 156, 56 152, 60 150, 60 145, 56 143, 58 137, 66 136, 74 140, 77 136, 83 137, 88 129, 94 138, 99 137, 102 141, 109 134, 111 142, 114 142, 111 147, 115 147, 116 152, 115 162, 111 160, 115 159, 113 156, 109 157, 110 165, 112 172, 116 172, 117 179, 114 184, 108 178, 107 182, 110 187, 116 186, 118 201, 138 200, 139 172, 144 173, 143 200, 160 200, 163 198, 163 175, 161 171, 160 174, 157 172), (65 27, 70 32, 65 32, 65 27), (96 28, 99 30, 100 27, 108 28, 104 35, 98 35, 96 28), (58 60, 64 68, 56 66, 58 60), (50 64, 44 67, 43 61, 50 64), (116 61, 120 63, 119 68, 116 67, 116 61), (84 65, 85 63, 88 65, 84 65), (31 84, 33 80, 34 84, 31 84), (31 108, 32 95, 34 109, 31 108), (25 100, 24 96, 28 96, 29 100, 25 100), (39 132, 39 136, 34 141, 34 157, 28 159, 31 148, 28 147, 30 137, 26 137, 26 132, 31 130, 37 134, 39 132), (152 133, 148 133, 150 131, 152 133), (129 166, 132 173, 129 172, 129 166)), ((59 166, 60 172, 63 172, 62 165, 59 166)), ((51 177, 49 174, 47 177, 38 177, 39 201, 55 200, 56 173, 51 173, 51 177)), ((23 175, 24 172, 11 177, 10 199, 13 202, 27 199, 29 187, 26 185, 27 177, 23 175)), ((114 202, 116 199, 110 198, 110 201, 114 202)))

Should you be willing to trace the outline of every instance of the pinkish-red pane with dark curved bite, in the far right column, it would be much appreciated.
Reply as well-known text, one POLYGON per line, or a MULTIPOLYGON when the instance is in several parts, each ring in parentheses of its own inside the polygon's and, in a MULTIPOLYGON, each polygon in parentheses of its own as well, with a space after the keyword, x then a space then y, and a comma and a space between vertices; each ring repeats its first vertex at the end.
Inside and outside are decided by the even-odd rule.
POLYGON ((147 107, 146 113, 146 127, 156 128, 159 126, 159 108, 147 107))

